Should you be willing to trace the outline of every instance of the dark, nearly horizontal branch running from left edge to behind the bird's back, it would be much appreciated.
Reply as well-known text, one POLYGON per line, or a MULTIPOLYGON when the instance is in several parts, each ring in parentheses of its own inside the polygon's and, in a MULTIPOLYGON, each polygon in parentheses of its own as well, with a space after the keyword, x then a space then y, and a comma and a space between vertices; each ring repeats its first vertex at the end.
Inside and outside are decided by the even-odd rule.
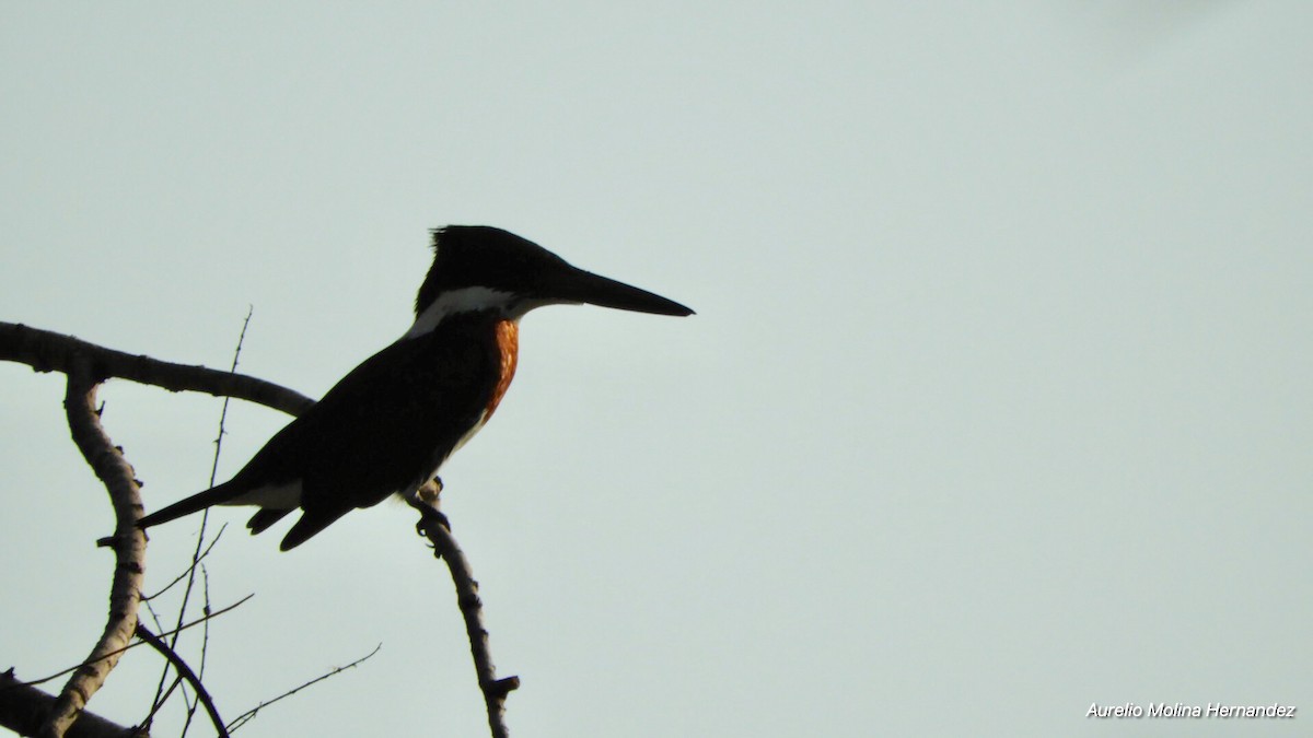
POLYGON ((89 374, 95 381, 118 377, 175 393, 234 397, 291 415, 299 415, 315 403, 301 393, 246 374, 133 356, 63 334, 0 322, 0 361, 26 364, 35 372, 67 374, 75 357, 89 362, 89 374))

